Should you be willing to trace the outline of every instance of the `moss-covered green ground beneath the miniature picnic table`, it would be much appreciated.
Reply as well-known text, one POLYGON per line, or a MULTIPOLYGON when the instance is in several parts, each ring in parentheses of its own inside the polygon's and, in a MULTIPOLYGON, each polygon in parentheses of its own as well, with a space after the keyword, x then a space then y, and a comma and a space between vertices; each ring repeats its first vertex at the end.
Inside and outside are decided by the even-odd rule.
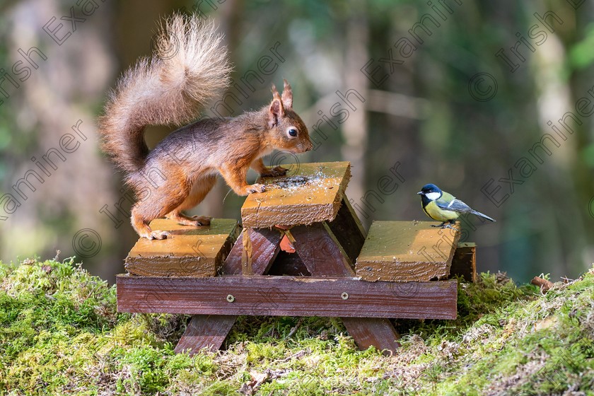
POLYGON ((184 315, 122 314, 73 260, 0 263, 0 394, 594 395, 594 270, 542 295, 460 283, 457 320, 399 320, 394 356, 332 318, 240 318, 226 350, 174 354, 184 315))

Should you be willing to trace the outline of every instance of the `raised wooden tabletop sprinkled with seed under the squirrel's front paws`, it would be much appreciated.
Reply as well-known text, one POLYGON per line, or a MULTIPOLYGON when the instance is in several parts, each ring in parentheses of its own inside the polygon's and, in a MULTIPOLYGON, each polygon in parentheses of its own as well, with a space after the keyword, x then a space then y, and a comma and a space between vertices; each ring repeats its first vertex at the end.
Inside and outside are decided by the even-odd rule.
POLYGON ((287 165, 287 176, 265 177, 267 191, 250 194, 241 207, 244 227, 295 226, 336 217, 351 177, 348 162, 287 165))

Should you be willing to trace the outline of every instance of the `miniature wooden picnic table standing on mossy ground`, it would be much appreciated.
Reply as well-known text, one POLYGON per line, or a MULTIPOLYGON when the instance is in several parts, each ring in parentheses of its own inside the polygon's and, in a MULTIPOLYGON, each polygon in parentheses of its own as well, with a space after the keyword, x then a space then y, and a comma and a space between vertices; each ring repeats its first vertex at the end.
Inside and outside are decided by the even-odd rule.
POLYGON ((375 221, 366 235, 349 178, 350 164, 336 162, 260 180, 267 190, 245 199, 242 231, 229 219, 153 221, 172 238, 134 245, 118 310, 193 315, 175 348, 190 354, 219 349, 238 315, 336 317, 361 349, 387 351, 400 346, 390 318, 455 319, 457 281, 435 279, 458 266, 472 280, 474 244, 429 221, 375 221))

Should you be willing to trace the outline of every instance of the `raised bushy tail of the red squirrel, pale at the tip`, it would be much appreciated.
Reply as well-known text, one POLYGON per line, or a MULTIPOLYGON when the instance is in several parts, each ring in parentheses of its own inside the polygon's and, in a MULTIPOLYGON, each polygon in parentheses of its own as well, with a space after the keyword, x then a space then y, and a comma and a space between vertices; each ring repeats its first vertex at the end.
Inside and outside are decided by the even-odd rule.
POLYGON ((140 170, 148 155, 144 127, 187 124, 230 81, 223 36, 213 23, 177 14, 156 37, 153 57, 124 73, 99 120, 103 151, 128 173, 140 170))

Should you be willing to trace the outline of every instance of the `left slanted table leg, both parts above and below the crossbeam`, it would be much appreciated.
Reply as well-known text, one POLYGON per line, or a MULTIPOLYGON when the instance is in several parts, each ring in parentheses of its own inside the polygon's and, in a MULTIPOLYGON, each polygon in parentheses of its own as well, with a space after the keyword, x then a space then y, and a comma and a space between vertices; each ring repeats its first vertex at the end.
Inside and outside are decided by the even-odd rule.
MULTIPOLYGON (((277 230, 245 228, 229 252, 221 272, 230 275, 265 274, 279 253, 280 242, 281 233, 277 230)), ((235 315, 193 315, 177 342, 175 352, 187 351, 193 355, 203 348, 211 351, 220 349, 236 319, 235 315)))

